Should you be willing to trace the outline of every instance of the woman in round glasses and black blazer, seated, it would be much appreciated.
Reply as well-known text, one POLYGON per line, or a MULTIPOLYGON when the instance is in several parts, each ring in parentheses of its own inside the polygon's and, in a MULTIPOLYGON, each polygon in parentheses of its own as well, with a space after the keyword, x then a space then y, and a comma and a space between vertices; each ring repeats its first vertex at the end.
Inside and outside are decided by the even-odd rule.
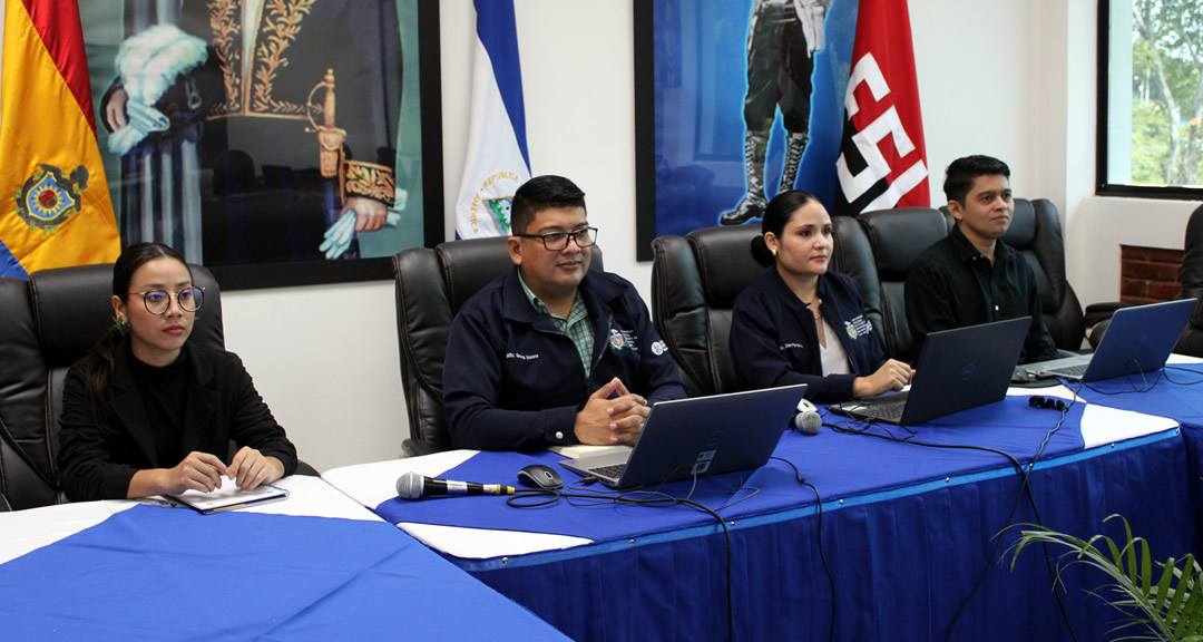
POLYGON ((296 448, 237 355, 189 346, 205 291, 183 258, 130 246, 113 266, 115 324, 67 372, 58 463, 73 501, 243 490, 296 470, 296 448), (227 465, 230 441, 241 448, 227 465))

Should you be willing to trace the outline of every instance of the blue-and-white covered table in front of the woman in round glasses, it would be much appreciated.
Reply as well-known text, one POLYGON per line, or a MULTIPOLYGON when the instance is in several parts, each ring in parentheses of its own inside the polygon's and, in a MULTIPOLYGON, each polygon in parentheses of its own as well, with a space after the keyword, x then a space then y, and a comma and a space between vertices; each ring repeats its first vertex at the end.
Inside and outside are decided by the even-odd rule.
POLYGON ((0 513, 2 640, 565 640, 318 477, 200 514, 0 513))

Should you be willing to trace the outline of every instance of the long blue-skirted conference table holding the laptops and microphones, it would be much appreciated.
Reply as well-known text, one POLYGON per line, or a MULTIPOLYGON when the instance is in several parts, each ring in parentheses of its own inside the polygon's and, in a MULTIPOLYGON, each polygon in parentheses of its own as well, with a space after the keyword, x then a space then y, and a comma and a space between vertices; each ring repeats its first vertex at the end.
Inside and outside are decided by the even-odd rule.
POLYGON ((567 490, 581 497, 527 494, 525 507, 393 489, 409 471, 514 484, 525 465, 558 467, 546 452, 455 450, 322 477, 574 640, 1069 640, 1068 625, 1101 640, 1121 617, 1085 594, 1101 576, 1067 567, 1057 600, 1059 552, 1008 549, 1036 522, 1118 536, 1104 519, 1120 513, 1157 559, 1198 550, 1185 431, 1131 406, 1059 385, 913 430, 826 414, 817 436, 786 431, 758 470, 620 502, 579 483, 567 490), (1062 418, 1031 394, 1075 401, 1062 418))

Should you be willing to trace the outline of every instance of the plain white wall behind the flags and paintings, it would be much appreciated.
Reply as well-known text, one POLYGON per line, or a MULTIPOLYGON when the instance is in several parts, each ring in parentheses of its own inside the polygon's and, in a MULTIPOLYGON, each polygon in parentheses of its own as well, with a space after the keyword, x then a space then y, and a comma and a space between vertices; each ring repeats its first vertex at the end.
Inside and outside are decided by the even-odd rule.
MULTIPOLYGON (((581 185, 606 267, 647 298, 651 265, 636 263, 634 251, 632 2, 515 4, 532 171, 581 185)), ((1062 212, 1071 282, 1084 304, 1118 298, 1120 242, 1181 247, 1193 205, 1090 195, 1094 1, 909 5, 934 204, 943 201, 943 170, 954 158, 1007 160, 1017 194, 1049 198, 1062 212)), ((474 16, 467 0, 440 11, 451 207, 467 143, 474 16)), ((391 282, 233 291, 224 306, 230 349, 302 458, 325 470, 401 452, 408 426, 391 282)))

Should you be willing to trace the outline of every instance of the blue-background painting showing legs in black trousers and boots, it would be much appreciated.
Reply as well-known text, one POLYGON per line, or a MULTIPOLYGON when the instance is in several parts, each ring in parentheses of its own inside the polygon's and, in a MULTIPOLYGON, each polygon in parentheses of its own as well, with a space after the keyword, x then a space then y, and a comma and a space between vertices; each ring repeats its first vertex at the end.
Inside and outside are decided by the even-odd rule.
POLYGON ((857 0, 635 2, 639 260, 651 241, 759 224, 805 189, 831 210, 857 0))

